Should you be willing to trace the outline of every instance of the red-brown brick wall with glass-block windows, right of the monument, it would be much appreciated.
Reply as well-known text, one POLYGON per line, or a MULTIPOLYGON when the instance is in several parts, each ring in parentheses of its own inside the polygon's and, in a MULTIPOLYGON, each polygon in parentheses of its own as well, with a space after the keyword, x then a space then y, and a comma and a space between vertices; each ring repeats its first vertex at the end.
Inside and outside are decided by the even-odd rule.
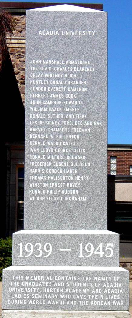
POLYGON ((110 174, 110 157, 116 157, 116 174, 130 175, 130 165, 132 165, 132 151, 108 150, 108 175, 110 174))

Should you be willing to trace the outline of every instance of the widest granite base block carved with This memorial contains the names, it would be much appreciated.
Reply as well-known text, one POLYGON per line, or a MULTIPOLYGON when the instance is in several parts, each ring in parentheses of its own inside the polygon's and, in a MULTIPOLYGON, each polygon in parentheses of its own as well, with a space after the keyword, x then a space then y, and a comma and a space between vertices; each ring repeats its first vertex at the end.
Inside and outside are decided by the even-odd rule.
POLYGON ((129 310, 129 271, 118 266, 10 266, 5 310, 129 310))

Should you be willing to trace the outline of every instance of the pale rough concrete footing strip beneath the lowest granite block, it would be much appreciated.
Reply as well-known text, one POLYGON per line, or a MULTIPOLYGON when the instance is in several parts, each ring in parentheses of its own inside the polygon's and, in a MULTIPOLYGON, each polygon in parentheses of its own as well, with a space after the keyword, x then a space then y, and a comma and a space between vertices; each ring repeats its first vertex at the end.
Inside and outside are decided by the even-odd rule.
POLYGON ((130 318, 129 311, 3 310, 2 318, 130 318))

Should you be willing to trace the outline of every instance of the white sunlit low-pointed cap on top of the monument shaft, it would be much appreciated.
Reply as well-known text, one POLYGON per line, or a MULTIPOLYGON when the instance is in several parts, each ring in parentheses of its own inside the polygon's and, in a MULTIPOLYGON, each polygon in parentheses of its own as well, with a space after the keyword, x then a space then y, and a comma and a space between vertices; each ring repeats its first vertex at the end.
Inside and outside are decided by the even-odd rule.
POLYGON ((77 5, 70 5, 70 4, 59 4, 59 5, 53 5, 49 7, 44 8, 38 8, 38 9, 31 9, 28 11, 84 11, 84 12, 104 12, 100 10, 94 10, 89 8, 80 7, 77 5))

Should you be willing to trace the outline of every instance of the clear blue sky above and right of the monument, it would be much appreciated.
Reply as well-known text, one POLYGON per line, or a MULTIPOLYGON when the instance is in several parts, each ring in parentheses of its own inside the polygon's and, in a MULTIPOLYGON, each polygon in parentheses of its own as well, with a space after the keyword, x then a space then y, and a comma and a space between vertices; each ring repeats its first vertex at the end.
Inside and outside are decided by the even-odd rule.
MULTIPOLYGON (((72 2, 88 3, 65 3, 72 2)), ((103 10, 108 11, 108 143, 132 144, 132 0, 89 3, 103 3, 103 10)))

